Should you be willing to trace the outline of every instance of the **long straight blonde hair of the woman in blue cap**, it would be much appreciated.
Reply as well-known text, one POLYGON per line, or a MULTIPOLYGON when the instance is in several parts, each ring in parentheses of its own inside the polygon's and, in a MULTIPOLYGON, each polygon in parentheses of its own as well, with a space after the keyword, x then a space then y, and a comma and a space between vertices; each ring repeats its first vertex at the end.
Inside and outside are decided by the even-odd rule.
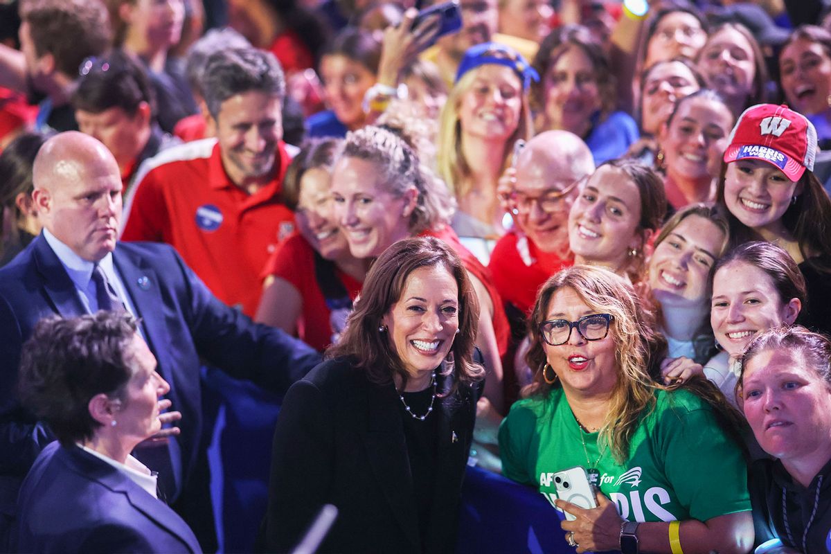
MULTIPOLYGON (((448 189, 450 189, 450 193, 454 194, 456 198, 470 193, 470 189, 465 186, 465 180, 473 174, 461 151, 462 127, 459 120, 459 108, 462 98, 473 87, 473 82, 479 74, 480 67, 468 71, 456 82, 453 89, 450 90, 450 94, 447 96, 447 102, 441 109, 441 115, 439 116, 439 140, 436 166, 440 178, 444 179, 448 189)), ((529 140, 533 134, 534 125, 531 121, 528 95, 528 90, 524 89, 522 91, 522 109, 519 112, 519 125, 514 130, 514 134, 505 141, 505 146, 502 151, 503 166, 505 168, 510 164, 510 154, 514 148, 514 143, 519 139, 529 140)))

